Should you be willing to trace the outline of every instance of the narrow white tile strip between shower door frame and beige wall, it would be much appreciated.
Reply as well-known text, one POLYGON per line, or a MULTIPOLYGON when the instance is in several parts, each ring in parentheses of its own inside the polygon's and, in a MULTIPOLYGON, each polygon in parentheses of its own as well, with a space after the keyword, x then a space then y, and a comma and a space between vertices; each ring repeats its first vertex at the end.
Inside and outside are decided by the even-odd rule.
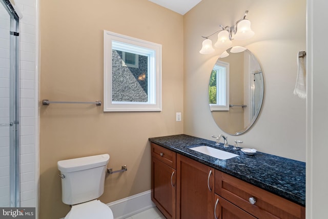
POLYGON ((20 19, 20 205, 37 206, 38 133, 36 77, 36 3, 15 0, 20 19))

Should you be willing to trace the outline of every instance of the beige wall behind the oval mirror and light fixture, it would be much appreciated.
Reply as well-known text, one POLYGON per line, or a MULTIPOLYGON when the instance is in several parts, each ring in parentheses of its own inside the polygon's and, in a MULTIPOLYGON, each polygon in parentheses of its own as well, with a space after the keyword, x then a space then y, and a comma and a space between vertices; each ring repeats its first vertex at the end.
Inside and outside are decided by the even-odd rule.
MULTIPOLYGON (((240 136, 228 135, 228 142, 242 140, 243 147, 305 161, 305 99, 293 94, 297 53, 305 50, 305 0, 202 0, 183 16, 184 38, 184 132, 212 139, 223 134, 214 123, 208 105, 211 70, 222 50, 202 55, 201 35, 218 26, 233 25, 245 10, 255 32, 247 41, 233 46, 247 47, 263 70, 264 102, 255 125, 240 136)), ((215 42, 215 36, 211 37, 215 42)), ((231 77, 231 76, 230 76, 231 77)))

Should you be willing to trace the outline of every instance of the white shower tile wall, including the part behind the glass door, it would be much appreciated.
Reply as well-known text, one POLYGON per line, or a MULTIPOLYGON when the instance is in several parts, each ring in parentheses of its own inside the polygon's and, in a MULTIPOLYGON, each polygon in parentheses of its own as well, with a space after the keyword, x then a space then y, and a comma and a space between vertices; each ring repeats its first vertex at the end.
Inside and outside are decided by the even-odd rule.
MULTIPOLYGON (((36 3, 16 0, 20 19, 20 205, 37 206, 38 114, 36 72, 36 3)), ((0 11, 0 123, 9 123, 9 22, 0 11)), ((8 128, 0 127, 0 206, 9 206, 9 138, 8 128)))

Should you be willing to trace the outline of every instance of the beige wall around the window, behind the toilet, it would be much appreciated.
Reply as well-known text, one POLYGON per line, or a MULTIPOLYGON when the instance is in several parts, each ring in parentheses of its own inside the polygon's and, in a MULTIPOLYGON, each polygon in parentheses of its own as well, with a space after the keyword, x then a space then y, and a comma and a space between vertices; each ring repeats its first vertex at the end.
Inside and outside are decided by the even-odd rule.
POLYGON ((106 178, 110 203, 151 189, 149 137, 183 132, 183 17, 147 0, 40 1, 40 99, 103 101, 103 30, 162 45, 162 111, 40 106, 40 218, 69 211, 57 161, 109 153, 109 167, 127 165, 106 178))

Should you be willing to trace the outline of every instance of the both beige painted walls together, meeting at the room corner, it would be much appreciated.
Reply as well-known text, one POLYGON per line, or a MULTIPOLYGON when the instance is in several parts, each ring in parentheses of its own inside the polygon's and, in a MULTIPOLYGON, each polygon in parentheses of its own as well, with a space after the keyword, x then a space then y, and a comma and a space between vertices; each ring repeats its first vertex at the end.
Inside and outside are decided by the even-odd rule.
MULTIPOLYGON (((40 99, 103 100, 104 29, 163 46, 162 112, 40 107, 40 218, 69 211, 61 203, 59 160, 109 153, 109 167, 127 165, 127 172, 107 176, 100 200, 109 203, 150 189, 148 137, 184 132, 210 139, 223 133, 208 106, 209 77, 221 51, 199 54, 200 36, 215 32, 219 24, 232 25, 245 10, 255 36, 233 45, 247 47, 259 59, 265 94, 259 120, 236 139, 304 161, 305 101, 293 90, 296 54, 305 50, 305 0, 202 0, 185 16, 147 0, 40 1, 40 99), (175 112, 183 112, 184 122, 175 122, 175 112)), ((228 140, 232 144, 235 137, 228 140)))

